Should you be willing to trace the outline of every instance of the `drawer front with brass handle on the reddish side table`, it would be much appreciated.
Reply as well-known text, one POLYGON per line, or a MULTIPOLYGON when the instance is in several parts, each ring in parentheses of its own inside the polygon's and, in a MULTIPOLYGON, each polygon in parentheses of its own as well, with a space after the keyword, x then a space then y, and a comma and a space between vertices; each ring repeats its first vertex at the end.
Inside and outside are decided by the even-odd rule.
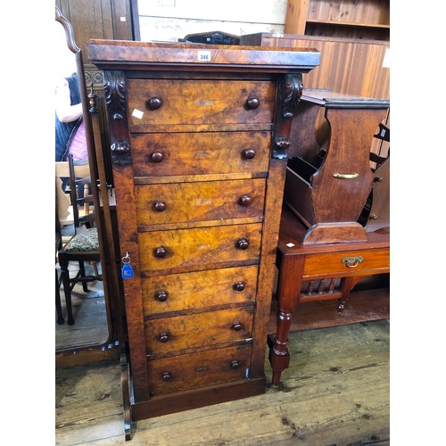
POLYGON ((364 251, 345 251, 326 254, 307 255, 302 278, 330 274, 340 277, 358 276, 358 273, 380 269, 385 272, 390 268, 389 249, 372 249, 364 251))

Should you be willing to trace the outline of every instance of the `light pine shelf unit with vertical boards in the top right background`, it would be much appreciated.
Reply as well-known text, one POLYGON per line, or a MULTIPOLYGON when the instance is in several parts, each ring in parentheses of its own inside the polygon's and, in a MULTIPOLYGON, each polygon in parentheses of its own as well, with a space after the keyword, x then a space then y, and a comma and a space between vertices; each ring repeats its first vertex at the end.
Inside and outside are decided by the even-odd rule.
POLYGON ((318 69, 304 76, 305 87, 390 97, 390 70, 383 66, 390 48, 389 0, 288 0, 284 32, 284 45, 321 53, 318 69))

